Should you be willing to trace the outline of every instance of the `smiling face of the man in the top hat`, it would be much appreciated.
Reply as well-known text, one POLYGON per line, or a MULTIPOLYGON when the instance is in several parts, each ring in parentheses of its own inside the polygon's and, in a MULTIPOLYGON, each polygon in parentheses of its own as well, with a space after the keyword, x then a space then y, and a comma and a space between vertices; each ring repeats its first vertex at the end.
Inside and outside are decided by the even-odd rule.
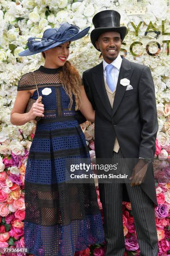
POLYGON ((105 32, 99 36, 95 44, 97 49, 100 49, 103 59, 110 64, 120 52, 122 44, 120 33, 115 31, 105 32))

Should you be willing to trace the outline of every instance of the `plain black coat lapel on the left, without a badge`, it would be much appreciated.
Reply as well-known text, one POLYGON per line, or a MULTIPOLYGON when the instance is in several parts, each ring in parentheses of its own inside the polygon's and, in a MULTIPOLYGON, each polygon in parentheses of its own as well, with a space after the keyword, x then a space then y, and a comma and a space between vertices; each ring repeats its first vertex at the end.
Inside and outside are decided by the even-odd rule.
POLYGON ((95 69, 93 71, 92 79, 93 79, 95 88, 98 92, 98 95, 100 97, 102 104, 104 105, 105 109, 111 116, 112 115, 112 107, 110 105, 109 98, 107 96, 107 92, 105 89, 102 62, 95 67, 95 69))

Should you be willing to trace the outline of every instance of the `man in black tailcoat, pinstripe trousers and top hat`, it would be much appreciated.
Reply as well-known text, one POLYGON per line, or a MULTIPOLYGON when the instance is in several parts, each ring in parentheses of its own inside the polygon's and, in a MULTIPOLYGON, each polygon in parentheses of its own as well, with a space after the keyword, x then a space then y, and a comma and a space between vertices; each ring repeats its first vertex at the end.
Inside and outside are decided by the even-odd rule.
POLYGON ((140 255, 156 256, 154 203, 157 204, 157 199, 150 163, 158 131, 153 79, 148 67, 120 56, 126 27, 120 26, 119 13, 101 11, 92 22, 95 29, 91 32, 91 41, 101 51, 103 61, 85 71, 82 78, 95 109, 96 158, 138 159, 131 173, 131 183, 100 184, 106 255, 122 256, 125 251, 122 200, 128 195, 140 255))

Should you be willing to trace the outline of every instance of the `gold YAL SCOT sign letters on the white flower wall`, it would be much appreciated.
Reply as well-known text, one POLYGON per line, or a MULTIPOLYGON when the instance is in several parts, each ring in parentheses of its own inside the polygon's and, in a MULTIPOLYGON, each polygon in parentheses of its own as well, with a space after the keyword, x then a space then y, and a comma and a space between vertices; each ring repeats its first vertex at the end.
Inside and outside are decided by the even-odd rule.
MULTIPOLYGON (((130 24, 133 26, 134 30, 135 30, 135 36, 138 36, 138 33, 140 31, 140 28, 141 28, 141 25, 145 23, 144 21, 140 21, 140 23, 138 25, 134 24, 133 22, 130 22, 130 24)), ((170 36, 170 32, 165 32, 166 31, 166 28, 165 28, 165 20, 162 20, 162 32, 159 31, 152 23, 152 21, 150 21, 149 25, 148 25, 148 28, 146 29, 145 33, 144 33, 144 36, 147 36, 148 33, 155 33, 155 38, 158 38, 158 36, 162 33, 163 36, 170 36)), ((128 30, 127 30, 127 34, 128 34, 128 30)), ((163 44, 166 45, 166 52, 167 52, 167 55, 170 54, 169 52, 169 44, 170 44, 170 40, 163 40, 162 41, 163 44)), ((125 42, 122 42, 122 45, 125 45, 126 46, 126 43, 125 42)), ((143 54, 144 51, 146 51, 149 55, 151 56, 156 56, 160 53, 160 50, 161 50, 161 46, 160 44, 157 42, 157 41, 150 41, 147 43, 146 45, 146 48, 145 50, 144 49, 141 49, 141 52, 140 53, 135 53, 134 52, 134 46, 142 46, 143 43, 141 43, 140 41, 135 41, 133 42, 131 45, 130 45, 130 53, 133 55, 133 56, 141 56, 143 54), (150 46, 157 46, 157 51, 155 53, 151 53, 149 51, 149 47, 150 46)), ((141 47, 142 48, 142 47, 141 47)), ((126 49, 123 49, 121 48, 121 51, 124 52, 124 55, 126 56, 128 54, 128 51, 126 49)))

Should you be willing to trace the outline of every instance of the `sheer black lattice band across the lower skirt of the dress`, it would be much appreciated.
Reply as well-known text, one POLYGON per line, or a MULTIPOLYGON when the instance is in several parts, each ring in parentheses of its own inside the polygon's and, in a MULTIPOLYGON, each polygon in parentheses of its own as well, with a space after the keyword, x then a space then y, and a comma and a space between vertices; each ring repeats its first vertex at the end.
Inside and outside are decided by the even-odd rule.
POLYGON ((25 221, 42 226, 70 225, 100 214, 94 184, 34 184, 25 180, 25 221))

